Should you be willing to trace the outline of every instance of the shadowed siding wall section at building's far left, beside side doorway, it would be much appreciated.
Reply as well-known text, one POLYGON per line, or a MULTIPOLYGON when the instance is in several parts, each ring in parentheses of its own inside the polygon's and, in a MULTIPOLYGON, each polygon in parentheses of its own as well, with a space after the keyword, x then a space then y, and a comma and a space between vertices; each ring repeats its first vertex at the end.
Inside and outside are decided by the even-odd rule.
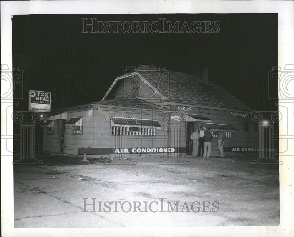
POLYGON ((43 128, 43 150, 46 152, 59 152, 58 122, 54 120, 54 134, 47 134, 47 127, 43 128))

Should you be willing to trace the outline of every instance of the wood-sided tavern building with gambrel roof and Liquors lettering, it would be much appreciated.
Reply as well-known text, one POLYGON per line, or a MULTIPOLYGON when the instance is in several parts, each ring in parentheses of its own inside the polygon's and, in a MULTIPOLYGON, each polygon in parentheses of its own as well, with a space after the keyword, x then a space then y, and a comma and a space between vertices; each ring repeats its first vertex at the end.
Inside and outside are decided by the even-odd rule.
MULTIPOLYGON (((100 157, 133 154, 184 156, 192 151, 190 135, 201 125, 210 128, 211 154, 218 154, 219 128, 224 145, 258 147, 258 124, 250 107, 219 85, 180 72, 140 65, 117 77, 101 101, 62 108, 46 114, 43 150, 79 154, 96 149, 100 157)), ((230 151, 230 150, 229 150, 230 151)), ((234 150, 233 150, 234 151, 234 150)))

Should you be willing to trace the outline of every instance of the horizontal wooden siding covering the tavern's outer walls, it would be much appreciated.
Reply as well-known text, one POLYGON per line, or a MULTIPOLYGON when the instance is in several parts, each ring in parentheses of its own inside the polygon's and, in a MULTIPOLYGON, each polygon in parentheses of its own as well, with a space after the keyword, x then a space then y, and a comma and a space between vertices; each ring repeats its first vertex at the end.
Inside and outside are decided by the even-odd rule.
MULTIPOLYGON (((156 112, 157 113, 157 112, 156 112)), ((69 112, 68 119, 72 117, 83 117, 83 133, 81 135, 72 135, 72 127, 65 127, 65 145, 66 154, 78 155, 80 147, 186 147, 186 122, 162 122, 158 119, 157 114, 152 112, 142 112, 140 110, 87 110, 82 112, 69 112), (125 117, 126 114, 136 112, 136 118, 156 119, 161 125, 161 129, 156 129, 156 136, 132 136, 132 135, 111 135, 110 121, 107 115, 112 113, 117 117, 125 117), (93 116, 94 115, 94 116, 93 116), (170 136, 168 128, 170 128, 170 136), (179 132, 181 131, 181 132, 179 132)), ((213 120, 212 123, 232 124, 238 130, 232 132, 231 138, 225 139, 225 145, 228 147, 258 147, 259 134, 253 132, 253 123, 249 123, 250 131, 243 131, 243 121, 239 117, 231 116, 230 111, 225 112, 226 115, 202 114, 213 120)), ((58 120, 57 120, 58 121, 58 120)), ((54 122, 54 134, 46 134, 44 128, 44 151, 59 151, 59 123, 54 122)), ((248 120, 248 122, 250 122, 248 120)), ((195 128, 200 127, 200 122, 194 123, 195 128)), ((212 154, 218 154, 217 139, 212 141, 212 154)), ((94 155, 94 157, 101 155, 94 155)))

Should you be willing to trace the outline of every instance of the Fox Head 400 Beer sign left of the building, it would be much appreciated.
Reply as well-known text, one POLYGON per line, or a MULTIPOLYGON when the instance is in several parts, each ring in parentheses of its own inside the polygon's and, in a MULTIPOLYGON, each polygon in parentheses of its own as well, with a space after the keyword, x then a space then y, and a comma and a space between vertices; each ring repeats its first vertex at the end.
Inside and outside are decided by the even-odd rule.
POLYGON ((29 91, 29 111, 50 112, 51 92, 29 91))

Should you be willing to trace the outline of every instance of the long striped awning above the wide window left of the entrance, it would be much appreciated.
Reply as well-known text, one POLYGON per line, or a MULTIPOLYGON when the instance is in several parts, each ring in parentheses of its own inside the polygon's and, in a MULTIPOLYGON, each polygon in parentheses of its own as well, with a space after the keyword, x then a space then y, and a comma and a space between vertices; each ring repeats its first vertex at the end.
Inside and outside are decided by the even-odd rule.
POLYGON ((157 120, 152 119, 129 119, 111 117, 111 126, 118 127, 142 127, 142 128, 161 128, 157 120))

